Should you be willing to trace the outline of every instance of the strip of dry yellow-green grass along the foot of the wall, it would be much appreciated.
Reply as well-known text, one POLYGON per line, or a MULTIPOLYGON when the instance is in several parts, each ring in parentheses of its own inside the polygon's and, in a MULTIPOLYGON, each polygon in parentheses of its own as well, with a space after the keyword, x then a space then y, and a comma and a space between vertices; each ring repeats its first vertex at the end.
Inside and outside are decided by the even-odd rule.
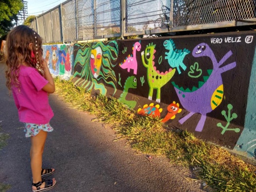
POLYGON ((194 169, 197 179, 217 191, 255 191, 256 167, 245 163, 225 149, 203 142, 187 131, 169 131, 159 118, 140 116, 119 100, 92 96, 72 81, 55 78, 56 93, 75 108, 95 114, 110 124, 117 138, 147 154, 164 155, 172 163, 194 169))

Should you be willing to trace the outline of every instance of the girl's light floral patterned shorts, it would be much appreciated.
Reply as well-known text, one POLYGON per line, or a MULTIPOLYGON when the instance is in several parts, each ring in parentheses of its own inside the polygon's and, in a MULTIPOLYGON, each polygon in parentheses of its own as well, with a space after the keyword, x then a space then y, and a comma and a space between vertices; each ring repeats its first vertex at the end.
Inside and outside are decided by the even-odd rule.
POLYGON ((50 123, 47 124, 35 124, 35 123, 24 123, 25 137, 36 136, 39 131, 52 132, 53 128, 50 123))

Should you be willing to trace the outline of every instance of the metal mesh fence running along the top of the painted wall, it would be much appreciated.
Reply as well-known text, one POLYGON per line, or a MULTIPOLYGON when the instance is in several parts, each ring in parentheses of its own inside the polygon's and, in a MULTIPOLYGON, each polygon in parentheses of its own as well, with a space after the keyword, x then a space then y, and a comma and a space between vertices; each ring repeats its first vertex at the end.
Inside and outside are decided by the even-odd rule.
POLYGON ((256 0, 69 0, 31 23, 45 42, 256 24, 256 0))

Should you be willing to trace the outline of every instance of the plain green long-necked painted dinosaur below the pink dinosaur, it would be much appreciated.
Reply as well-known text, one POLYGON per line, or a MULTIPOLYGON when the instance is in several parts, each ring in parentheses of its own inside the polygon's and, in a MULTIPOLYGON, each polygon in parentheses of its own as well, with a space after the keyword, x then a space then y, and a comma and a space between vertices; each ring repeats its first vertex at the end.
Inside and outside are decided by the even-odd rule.
POLYGON ((126 104, 129 108, 135 108, 137 101, 128 101, 125 99, 129 89, 136 89, 137 88, 137 78, 135 76, 130 76, 125 80, 123 86, 123 92, 119 97, 119 100, 126 104))

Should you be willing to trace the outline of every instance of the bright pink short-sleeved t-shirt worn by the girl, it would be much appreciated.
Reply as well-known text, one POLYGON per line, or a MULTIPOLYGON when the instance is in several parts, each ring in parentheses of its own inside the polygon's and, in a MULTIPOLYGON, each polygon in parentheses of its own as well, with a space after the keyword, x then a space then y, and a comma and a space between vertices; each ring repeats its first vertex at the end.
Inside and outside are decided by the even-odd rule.
POLYGON ((19 121, 35 124, 49 123, 53 112, 47 92, 42 90, 48 81, 36 69, 26 66, 20 66, 18 80, 20 91, 14 87, 12 93, 18 109, 19 121))

